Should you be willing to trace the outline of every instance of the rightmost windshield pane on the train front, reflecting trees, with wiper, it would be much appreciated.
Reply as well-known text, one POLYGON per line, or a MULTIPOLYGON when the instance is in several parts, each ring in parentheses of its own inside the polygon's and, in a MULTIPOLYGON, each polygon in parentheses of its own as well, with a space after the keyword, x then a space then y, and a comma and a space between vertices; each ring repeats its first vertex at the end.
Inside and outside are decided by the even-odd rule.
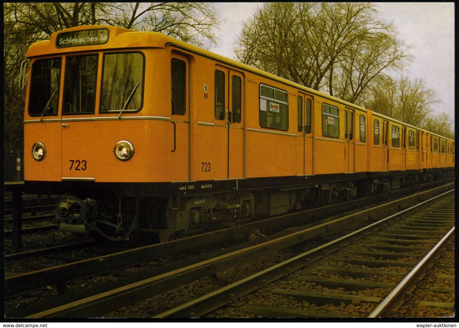
POLYGON ((105 54, 100 111, 140 110, 142 107, 143 72, 144 56, 140 53, 105 54), (136 87, 137 85, 138 87, 136 87), (133 94, 126 108, 123 108, 131 93, 133 94))

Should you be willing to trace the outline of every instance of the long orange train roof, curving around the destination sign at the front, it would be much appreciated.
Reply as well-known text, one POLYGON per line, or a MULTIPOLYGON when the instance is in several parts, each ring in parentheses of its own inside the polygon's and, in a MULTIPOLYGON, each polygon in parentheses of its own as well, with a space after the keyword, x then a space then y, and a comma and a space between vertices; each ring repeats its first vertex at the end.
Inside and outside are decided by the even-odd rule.
MULTIPOLYGON (((139 48, 140 49, 141 48, 144 48, 144 49, 146 48, 167 48, 168 46, 175 46, 179 49, 183 49, 191 53, 195 53, 195 54, 199 54, 199 55, 202 55, 208 58, 212 58, 213 60, 217 60, 229 66, 238 67, 245 71, 250 71, 253 74, 267 77, 269 79, 284 83, 291 87, 296 87, 300 90, 303 90, 304 92, 307 92, 313 95, 317 95, 322 98, 330 99, 332 101, 341 103, 345 106, 348 106, 354 109, 359 109, 365 112, 369 111, 368 109, 365 109, 356 104, 349 103, 345 100, 330 96, 329 94, 322 93, 320 91, 314 90, 309 87, 305 87, 301 84, 291 82, 285 78, 278 77, 274 74, 268 73, 266 71, 262 71, 252 66, 248 66, 239 61, 232 60, 222 55, 218 55, 206 49, 196 47, 192 44, 188 44, 186 42, 180 41, 176 38, 170 37, 168 35, 165 35, 159 32, 149 32, 149 31, 139 32, 139 31, 126 29, 123 27, 105 26, 105 25, 82 25, 78 27, 71 27, 71 28, 67 28, 62 31, 52 33, 49 40, 40 41, 35 44, 32 44, 27 51, 27 57, 33 58, 37 56, 51 55, 51 54, 66 54, 66 53, 74 53, 76 51, 94 51, 95 45, 97 46, 96 48, 97 50, 119 49, 119 48, 136 48, 136 49, 139 49, 139 48), (95 31, 100 31, 101 35, 99 36, 98 34, 95 33, 95 31), (94 33, 90 33, 90 32, 94 32, 94 33), (97 40, 95 40, 93 43, 79 41, 84 38, 90 39, 91 35, 92 35, 92 38, 97 38, 97 40), (103 35, 107 37, 106 40, 101 40, 101 38, 103 38, 103 35), (75 42, 72 42, 72 39, 74 39, 75 42), (71 43, 71 45, 66 45, 67 42, 71 43), (64 44, 62 45, 60 43, 64 43, 64 44), (51 51, 50 49, 54 49, 54 51, 51 51)), ((387 120, 397 122, 404 126, 409 126, 416 130, 425 131, 424 129, 421 129, 416 126, 412 126, 410 124, 404 123, 399 120, 395 120, 391 117, 382 115, 380 113, 377 113, 374 111, 371 111, 371 112, 374 115, 380 116, 387 120)), ((438 137, 442 137, 432 132, 428 132, 428 133, 431 133, 432 135, 435 135, 438 137)), ((452 140, 447 137, 442 137, 442 138, 452 140)))

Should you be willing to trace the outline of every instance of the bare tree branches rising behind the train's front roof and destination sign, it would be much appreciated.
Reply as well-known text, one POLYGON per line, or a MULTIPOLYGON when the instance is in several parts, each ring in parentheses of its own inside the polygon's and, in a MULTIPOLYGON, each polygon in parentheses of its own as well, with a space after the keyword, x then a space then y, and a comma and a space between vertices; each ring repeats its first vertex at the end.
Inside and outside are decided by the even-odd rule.
POLYGON ((112 25, 137 31, 162 32, 200 46, 215 44, 213 28, 219 17, 212 4, 151 3, 12 3, 19 25, 51 33, 79 25, 112 25))

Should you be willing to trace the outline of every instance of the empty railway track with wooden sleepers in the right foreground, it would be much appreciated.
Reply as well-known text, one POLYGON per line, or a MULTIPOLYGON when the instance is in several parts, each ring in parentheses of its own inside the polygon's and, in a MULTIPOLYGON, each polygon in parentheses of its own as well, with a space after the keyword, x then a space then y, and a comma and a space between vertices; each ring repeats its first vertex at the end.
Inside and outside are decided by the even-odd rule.
POLYGON ((454 234, 454 193, 413 210, 402 211, 394 224, 387 225, 395 216, 380 220, 156 317, 394 316, 454 234))

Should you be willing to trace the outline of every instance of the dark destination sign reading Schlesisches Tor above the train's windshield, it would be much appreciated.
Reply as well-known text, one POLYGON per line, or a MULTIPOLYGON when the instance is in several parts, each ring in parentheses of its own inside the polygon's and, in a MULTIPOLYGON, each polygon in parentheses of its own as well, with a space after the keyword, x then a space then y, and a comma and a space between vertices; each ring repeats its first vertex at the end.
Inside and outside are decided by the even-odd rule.
POLYGON ((76 47, 79 45, 105 44, 108 41, 108 29, 84 30, 57 34, 56 47, 76 47))

